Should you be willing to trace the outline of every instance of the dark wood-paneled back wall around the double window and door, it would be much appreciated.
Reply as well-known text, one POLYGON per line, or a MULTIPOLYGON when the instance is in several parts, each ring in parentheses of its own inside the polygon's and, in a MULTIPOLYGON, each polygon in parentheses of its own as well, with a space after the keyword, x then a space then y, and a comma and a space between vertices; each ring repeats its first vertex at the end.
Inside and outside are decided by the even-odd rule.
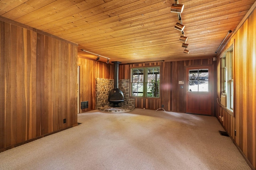
POLYGON ((166 111, 186 112, 186 89, 180 88, 178 81, 184 81, 186 66, 214 64, 212 59, 188 61, 155 62, 140 64, 120 64, 119 78, 130 79, 130 68, 160 66, 160 98, 135 98, 136 108, 158 109, 164 105, 166 111))

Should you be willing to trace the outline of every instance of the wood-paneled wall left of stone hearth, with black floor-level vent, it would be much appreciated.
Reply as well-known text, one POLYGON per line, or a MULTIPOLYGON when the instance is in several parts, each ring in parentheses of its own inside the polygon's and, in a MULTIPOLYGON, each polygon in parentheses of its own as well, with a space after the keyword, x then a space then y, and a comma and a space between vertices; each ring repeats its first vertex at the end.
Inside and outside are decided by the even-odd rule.
POLYGON ((96 78, 114 79, 114 65, 78 57, 80 66, 80 102, 88 101, 88 108, 79 113, 96 109, 96 78))

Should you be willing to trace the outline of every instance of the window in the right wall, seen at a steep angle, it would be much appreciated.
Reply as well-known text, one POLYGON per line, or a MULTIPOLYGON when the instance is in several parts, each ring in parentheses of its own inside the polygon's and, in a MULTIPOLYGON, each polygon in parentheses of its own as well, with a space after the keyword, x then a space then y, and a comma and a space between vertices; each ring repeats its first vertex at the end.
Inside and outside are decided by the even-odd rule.
POLYGON ((221 59, 222 92, 226 93, 226 107, 230 111, 234 108, 234 80, 233 80, 233 46, 221 59))

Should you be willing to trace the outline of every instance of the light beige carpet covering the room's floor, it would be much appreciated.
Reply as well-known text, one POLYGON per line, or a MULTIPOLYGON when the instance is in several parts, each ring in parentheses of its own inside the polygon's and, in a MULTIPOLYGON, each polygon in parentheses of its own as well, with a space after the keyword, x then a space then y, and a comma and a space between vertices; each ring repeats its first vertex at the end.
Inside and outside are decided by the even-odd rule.
POLYGON ((216 117, 89 111, 76 127, 0 153, 0 169, 250 170, 216 117))

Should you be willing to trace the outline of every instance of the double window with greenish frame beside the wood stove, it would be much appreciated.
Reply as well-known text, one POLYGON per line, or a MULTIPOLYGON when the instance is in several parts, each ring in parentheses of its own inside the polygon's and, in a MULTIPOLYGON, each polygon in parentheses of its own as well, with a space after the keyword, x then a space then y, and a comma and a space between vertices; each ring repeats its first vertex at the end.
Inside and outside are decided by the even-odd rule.
POLYGON ((132 68, 131 96, 159 98, 160 68, 132 68))

